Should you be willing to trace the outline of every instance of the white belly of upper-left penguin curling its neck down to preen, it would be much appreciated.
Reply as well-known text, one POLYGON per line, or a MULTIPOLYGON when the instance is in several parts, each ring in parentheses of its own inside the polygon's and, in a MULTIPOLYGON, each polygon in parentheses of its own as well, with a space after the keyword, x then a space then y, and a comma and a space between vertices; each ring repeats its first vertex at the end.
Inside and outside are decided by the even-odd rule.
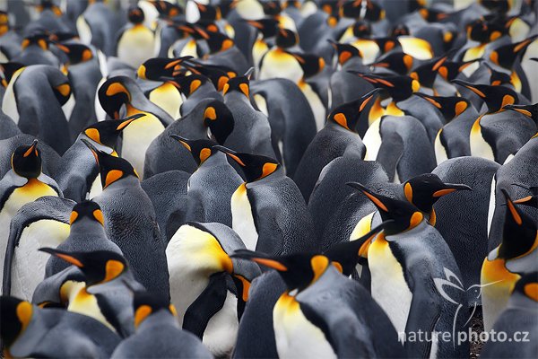
POLYGON ((123 130, 121 156, 130 162, 139 174, 143 173, 146 150, 162 131, 164 126, 161 121, 152 115, 133 121, 123 130))

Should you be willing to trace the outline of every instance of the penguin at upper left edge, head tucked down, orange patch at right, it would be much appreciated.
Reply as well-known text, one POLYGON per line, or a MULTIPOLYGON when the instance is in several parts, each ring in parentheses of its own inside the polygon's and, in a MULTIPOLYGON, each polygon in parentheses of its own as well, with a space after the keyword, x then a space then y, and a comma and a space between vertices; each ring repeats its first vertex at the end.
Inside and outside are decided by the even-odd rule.
POLYGON ((70 94, 69 80, 56 68, 22 67, 5 91, 2 109, 23 133, 37 136, 62 155, 72 142, 61 108, 70 94))

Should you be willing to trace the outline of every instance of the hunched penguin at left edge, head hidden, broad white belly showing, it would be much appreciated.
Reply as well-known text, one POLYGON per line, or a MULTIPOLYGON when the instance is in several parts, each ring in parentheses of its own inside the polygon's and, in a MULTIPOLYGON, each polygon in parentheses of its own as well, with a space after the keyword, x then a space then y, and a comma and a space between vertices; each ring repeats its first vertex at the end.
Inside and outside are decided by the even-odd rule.
POLYGON ((69 214, 74 202, 60 197, 40 197, 21 207, 13 217, 5 250, 4 295, 30 301, 45 276, 48 256, 44 246, 56 247, 69 235, 69 214), (47 232, 47 236, 42 233, 47 232), (31 263, 31 266, 28 266, 31 263))

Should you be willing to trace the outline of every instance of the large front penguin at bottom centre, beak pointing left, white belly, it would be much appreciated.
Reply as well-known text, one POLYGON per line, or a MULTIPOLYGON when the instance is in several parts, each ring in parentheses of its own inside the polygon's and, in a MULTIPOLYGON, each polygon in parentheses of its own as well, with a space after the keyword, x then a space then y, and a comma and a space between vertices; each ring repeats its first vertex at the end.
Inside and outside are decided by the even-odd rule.
POLYGON ((383 310, 324 255, 238 250, 232 258, 276 269, 282 277, 286 290, 273 304, 273 328, 257 328, 263 340, 260 346, 274 340, 279 357, 401 355, 403 347, 383 310), (350 330, 343 331, 342 326, 350 330))

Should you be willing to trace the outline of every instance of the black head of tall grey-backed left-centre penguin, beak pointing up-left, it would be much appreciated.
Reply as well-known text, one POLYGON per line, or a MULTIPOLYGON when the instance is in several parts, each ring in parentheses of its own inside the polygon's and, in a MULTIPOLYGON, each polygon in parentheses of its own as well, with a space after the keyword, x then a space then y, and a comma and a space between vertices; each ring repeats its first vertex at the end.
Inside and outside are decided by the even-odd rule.
POLYGON ((134 176, 139 179, 138 173, 134 171, 131 163, 121 157, 115 157, 111 154, 104 153, 95 148, 89 141, 82 139, 82 142, 88 146, 91 153, 95 157, 95 162, 99 165, 101 185, 103 189, 110 186, 117 180, 125 179, 129 176, 134 176))

